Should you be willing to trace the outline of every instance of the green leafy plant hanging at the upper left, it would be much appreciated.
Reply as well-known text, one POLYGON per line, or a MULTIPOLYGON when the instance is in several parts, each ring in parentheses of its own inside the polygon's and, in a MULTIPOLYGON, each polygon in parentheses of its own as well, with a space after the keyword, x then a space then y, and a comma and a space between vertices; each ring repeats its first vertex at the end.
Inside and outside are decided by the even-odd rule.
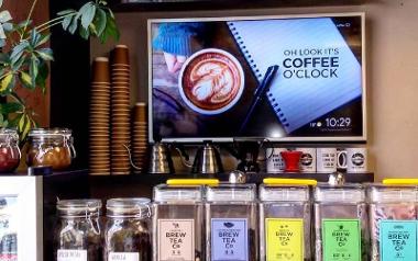
MULTIPOLYGON (((114 15, 106 0, 86 2, 79 10, 68 9, 42 24, 33 24, 31 16, 37 0, 33 0, 28 19, 15 22, 8 10, 0 11, 0 127, 15 127, 21 141, 37 126, 36 113, 19 97, 16 90, 46 91, 48 63, 54 60, 47 46, 52 26, 62 26, 70 34, 88 39, 119 38, 114 15)), ((0 8, 3 0, 0 0, 0 8)))

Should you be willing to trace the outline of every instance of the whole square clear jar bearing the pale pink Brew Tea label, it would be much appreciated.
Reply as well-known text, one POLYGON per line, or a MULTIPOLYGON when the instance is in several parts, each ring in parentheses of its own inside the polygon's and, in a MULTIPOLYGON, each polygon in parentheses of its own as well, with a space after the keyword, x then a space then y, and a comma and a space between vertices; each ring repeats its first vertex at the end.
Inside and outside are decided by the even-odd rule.
POLYGON ((154 188, 154 261, 204 260, 202 189, 165 184, 154 188))

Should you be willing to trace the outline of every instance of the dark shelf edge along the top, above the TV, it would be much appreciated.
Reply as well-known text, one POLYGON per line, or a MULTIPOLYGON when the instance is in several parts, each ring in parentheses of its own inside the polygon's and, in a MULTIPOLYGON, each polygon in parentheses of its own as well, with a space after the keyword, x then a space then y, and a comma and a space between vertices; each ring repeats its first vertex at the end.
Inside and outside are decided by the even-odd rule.
POLYGON ((117 12, 358 5, 365 0, 162 0, 113 1, 117 12))

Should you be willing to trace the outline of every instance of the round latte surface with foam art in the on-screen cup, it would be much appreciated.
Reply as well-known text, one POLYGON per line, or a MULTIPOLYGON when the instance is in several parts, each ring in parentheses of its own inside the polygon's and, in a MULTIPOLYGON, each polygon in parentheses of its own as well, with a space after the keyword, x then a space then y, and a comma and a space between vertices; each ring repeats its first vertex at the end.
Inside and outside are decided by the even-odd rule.
POLYGON ((218 110, 237 98, 242 88, 240 70, 229 57, 205 53, 193 59, 183 75, 187 99, 202 110, 218 110))

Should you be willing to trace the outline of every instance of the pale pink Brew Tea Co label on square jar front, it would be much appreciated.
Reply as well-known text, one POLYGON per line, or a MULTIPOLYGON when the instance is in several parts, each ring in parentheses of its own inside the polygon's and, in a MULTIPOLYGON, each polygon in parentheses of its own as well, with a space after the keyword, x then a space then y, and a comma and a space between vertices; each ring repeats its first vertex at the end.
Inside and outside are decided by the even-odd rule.
POLYGON ((195 219, 158 219, 158 261, 195 260, 195 219))

